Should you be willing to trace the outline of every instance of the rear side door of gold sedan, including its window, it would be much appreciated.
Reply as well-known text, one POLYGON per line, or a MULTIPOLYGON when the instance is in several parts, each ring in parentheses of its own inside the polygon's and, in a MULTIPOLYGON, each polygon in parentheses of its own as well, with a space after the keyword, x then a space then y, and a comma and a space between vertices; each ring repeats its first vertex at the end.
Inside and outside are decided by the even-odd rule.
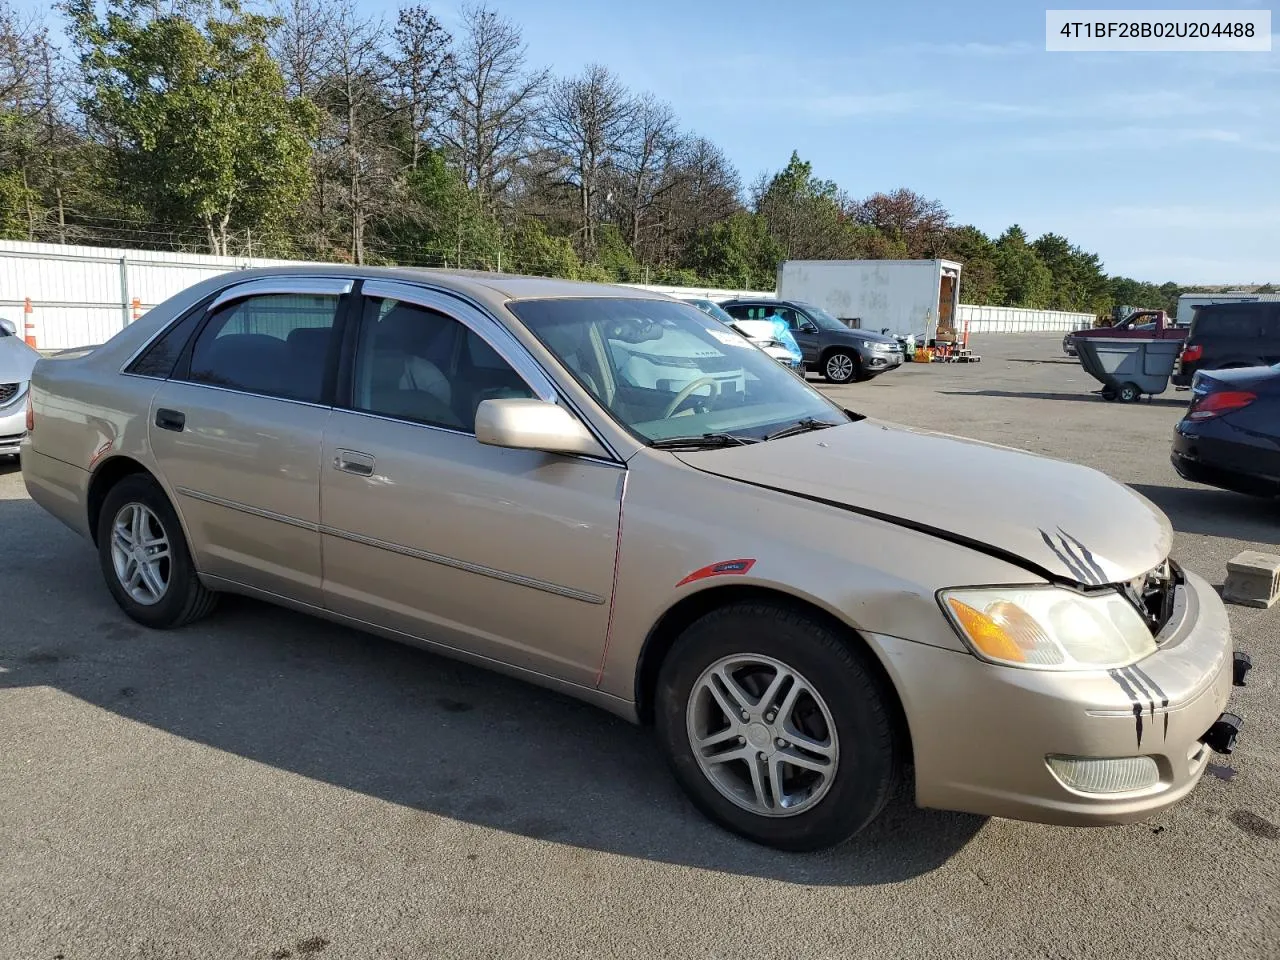
POLYGON ((324 381, 349 288, 329 278, 232 288, 156 393, 151 448, 201 572, 321 603, 324 381))

